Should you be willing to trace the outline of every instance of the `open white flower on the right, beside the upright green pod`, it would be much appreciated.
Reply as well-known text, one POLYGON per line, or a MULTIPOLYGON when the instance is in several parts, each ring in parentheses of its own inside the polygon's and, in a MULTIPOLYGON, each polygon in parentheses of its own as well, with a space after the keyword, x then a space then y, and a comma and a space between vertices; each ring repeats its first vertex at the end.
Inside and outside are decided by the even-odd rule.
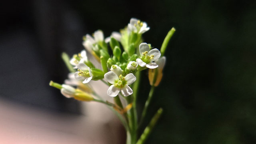
POLYGON ((160 58, 161 53, 158 49, 154 48, 150 50, 147 43, 141 43, 139 46, 140 56, 141 58, 137 58, 136 61, 138 62, 139 66, 147 68, 157 68, 158 65, 153 61, 158 60, 160 58))

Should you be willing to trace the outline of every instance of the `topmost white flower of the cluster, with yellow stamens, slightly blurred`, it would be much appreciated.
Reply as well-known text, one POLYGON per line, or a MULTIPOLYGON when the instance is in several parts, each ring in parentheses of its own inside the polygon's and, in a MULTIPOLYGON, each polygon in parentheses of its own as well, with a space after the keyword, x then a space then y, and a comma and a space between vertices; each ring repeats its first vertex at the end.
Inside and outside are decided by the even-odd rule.
POLYGON ((147 27, 146 22, 141 22, 136 18, 131 18, 130 23, 128 24, 128 31, 131 32, 138 32, 138 34, 143 34, 144 32, 148 31, 150 28, 147 27))

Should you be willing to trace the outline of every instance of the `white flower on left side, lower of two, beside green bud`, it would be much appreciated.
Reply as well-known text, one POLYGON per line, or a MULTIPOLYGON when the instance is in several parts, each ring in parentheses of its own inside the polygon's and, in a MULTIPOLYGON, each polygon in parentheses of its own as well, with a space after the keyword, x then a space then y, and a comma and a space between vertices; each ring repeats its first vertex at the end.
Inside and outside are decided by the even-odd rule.
POLYGON ((83 80, 83 83, 86 84, 92 80, 92 71, 86 64, 79 63, 77 65, 78 72, 75 72, 75 78, 76 80, 83 80))

